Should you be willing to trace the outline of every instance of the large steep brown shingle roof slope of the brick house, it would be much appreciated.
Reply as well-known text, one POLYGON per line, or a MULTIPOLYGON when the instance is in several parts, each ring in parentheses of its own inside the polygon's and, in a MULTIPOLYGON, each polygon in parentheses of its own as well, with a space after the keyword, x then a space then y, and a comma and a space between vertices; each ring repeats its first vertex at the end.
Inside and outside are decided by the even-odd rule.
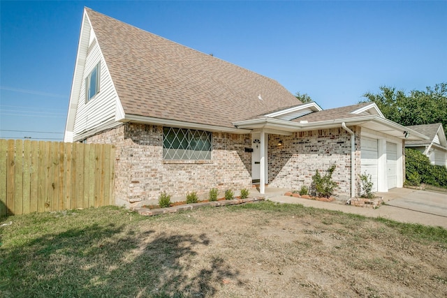
POLYGON ((85 8, 125 117, 234 128, 300 103, 277 81, 85 8), (261 99, 260 99, 261 98, 261 99))

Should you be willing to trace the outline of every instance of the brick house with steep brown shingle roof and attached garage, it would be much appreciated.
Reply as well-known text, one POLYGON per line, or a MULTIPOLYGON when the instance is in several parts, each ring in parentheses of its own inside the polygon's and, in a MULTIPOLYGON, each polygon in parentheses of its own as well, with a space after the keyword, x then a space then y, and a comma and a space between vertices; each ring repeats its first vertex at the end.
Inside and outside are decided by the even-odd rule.
POLYGON ((296 189, 335 164, 341 196, 362 172, 402 187, 404 139, 424 135, 374 103, 322 110, 278 82, 85 8, 65 142, 115 144, 117 204, 258 183, 296 189))

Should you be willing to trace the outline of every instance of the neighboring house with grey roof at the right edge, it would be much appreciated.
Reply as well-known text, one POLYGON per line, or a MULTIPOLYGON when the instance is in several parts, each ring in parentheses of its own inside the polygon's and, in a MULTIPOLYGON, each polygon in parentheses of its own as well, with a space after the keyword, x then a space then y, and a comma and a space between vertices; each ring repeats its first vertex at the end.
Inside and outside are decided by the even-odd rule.
POLYGON ((432 165, 444 165, 447 167, 447 140, 442 124, 424 124, 406 126, 407 128, 427 135, 428 140, 405 142, 406 148, 416 149, 430 158, 432 165))

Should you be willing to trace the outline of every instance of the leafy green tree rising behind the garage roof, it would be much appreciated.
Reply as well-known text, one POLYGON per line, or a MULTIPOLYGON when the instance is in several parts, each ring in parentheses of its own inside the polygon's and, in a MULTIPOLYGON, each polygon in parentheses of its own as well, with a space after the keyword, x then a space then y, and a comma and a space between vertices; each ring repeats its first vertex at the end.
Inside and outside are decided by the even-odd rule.
POLYGON ((404 126, 441 123, 447 133, 447 82, 409 94, 394 87, 380 89, 377 94, 363 94, 366 100, 360 103, 376 103, 386 118, 404 126))

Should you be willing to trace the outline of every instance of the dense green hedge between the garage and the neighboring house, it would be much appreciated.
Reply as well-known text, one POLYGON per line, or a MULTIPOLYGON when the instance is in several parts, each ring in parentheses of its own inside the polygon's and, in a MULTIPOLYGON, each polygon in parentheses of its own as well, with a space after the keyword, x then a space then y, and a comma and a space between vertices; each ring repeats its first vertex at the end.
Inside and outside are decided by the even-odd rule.
POLYGON ((447 167, 432 165, 430 159, 415 149, 405 149, 405 184, 421 183, 447 188, 447 167))

